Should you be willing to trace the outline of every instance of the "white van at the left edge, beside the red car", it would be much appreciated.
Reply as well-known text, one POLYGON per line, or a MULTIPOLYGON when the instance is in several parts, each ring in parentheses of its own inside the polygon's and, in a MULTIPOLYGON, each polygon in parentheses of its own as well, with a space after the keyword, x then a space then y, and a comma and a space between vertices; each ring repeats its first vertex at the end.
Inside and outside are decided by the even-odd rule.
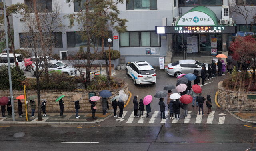
MULTIPOLYGON (((20 66, 20 69, 21 70, 25 70, 26 67, 25 67, 25 62, 24 62, 24 57, 22 54, 15 54, 16 56, 16 61, 17 61, 17 64, 20 66)), ((11 66, 15 66, 15 63, 14 63, 14 57, 13 57, 13 54, 10 53, 9 54, 9 58, 10 58, 10 65, 11 66)), ((0 66, 1 65, 8 65, 8 62, 7 62, 7 53, 2 53, 0 54, 0 66)))

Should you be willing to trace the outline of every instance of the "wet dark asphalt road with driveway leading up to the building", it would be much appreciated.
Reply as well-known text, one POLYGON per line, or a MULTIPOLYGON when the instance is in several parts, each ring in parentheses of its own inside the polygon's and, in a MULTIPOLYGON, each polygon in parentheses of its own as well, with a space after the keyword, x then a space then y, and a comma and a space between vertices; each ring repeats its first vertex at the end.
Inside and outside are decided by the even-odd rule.
MULTIPOLYGON (((133 85, 132 79, 126 76, 125 71, 116 71, 115 77, 129 83, 132 96, 138 95, 143 99, 146 95, 154 96, 158 91, 164 91, 165 85, 176 85, 177 79, 168 76, 166 72, 156 70, 156 75, 155 85, 139 86, 133 85)), ((150 118, 134 118, 131 99, 124 108, 126 115, 122 120, 110 117, 99 124, 83 127, 1 125, 0 149, 3 151, 245 151, 250 148, 256 125, 250 125, 252 128, 246 127, 244 126, 247 125, 246 123, 229 115, 225 110, 218 109, 214 99, 218 89, 217 84, 224 78, 225 76, 214 78, 206 81, 211 83, 202 86, 203 96, 211 95, 214 115, 209 118, 205 113, 204 116, 200 116, 202 118, 199 118, 198 124, 196 124, 198 108, 192 107, 192 104, 188 109, 191 111, 190 120, 184 119, 182 109, 180 121, 174 122, 169 115, 165 121, 161 120, 160 115, 157 114, 159 100, 156 98, 153 98, 151 103, 150 118), (220 119, 222 119, 221 123, 220 119), (17 133, 24 133, 24 136, 16 138, 17 133)), ((204 109, 205 111, 207 109, 205 104, 204 109)))

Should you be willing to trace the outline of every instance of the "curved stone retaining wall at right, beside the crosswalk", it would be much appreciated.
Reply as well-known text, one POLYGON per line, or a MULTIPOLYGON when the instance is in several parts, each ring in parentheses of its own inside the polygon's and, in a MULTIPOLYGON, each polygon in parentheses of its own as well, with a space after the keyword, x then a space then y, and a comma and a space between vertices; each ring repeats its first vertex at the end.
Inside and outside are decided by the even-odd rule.
MULTIPOLYGON (((228 108, 228 105, 244 105, 244 101, 242 101, 242 97, 244 97, 244 99, 247 99, 248 101, 252 101, 252 102, 256 102, 256 99, 248 99, 248 95, 250 95, 251 97, 254 96, 254 98, 256 98, 256 92, 254 91, 241 91, 238 94, 238 91, 232 91, 232 90, 228 90, 225 89, 222 85, 223 81, 220 81, 218 83, 218 104, 222 107, 228 108), (233 99, 231 100, 232 104, 230 104, 230 99, 233 97, 233 99)), ((256 111, 256 106, 248 106, 244 109, 242 109, 241 107, 237 107, 237 108, 232 108, 232 110, 243 110, 243 111, 256 111)))

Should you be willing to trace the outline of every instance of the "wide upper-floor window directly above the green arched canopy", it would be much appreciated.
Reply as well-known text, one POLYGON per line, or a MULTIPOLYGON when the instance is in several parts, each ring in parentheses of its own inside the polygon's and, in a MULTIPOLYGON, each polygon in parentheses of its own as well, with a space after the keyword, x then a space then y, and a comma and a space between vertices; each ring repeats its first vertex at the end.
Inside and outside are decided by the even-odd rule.
POLYGON ((179 6, 222 6, 222 0, 179 0, 179 6))

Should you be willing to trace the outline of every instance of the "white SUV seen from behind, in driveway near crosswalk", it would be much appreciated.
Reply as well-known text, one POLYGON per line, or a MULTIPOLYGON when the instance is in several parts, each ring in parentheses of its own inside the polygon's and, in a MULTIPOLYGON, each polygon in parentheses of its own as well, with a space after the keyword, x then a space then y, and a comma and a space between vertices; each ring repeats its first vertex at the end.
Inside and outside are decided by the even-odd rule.
POLYGON ((147 61, 137 61, 127 64, 126 74, 132 77, 134 85, 156 84, 155 70, 147 61))

